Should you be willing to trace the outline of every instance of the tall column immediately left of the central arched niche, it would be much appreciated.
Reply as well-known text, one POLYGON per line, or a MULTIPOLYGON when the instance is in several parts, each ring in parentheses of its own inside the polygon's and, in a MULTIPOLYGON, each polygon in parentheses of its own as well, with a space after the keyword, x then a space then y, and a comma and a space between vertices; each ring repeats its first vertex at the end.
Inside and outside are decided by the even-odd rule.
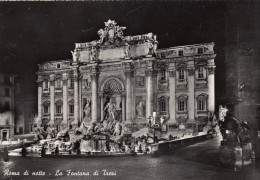
POLYGON ((91 91, 92 91, 92 100, 91 100, 91 118, 92 121, 97 121, 97 73, 91 74, 91 91))

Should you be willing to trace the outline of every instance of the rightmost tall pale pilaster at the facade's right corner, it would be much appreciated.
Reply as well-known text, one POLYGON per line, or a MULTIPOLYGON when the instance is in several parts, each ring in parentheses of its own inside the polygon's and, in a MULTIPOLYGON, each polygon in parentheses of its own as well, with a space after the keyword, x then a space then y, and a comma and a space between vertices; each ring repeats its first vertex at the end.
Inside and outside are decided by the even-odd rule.
POLYGON ((215 111, 215 65, 214 59, 208 60, 208 110, 215 111))

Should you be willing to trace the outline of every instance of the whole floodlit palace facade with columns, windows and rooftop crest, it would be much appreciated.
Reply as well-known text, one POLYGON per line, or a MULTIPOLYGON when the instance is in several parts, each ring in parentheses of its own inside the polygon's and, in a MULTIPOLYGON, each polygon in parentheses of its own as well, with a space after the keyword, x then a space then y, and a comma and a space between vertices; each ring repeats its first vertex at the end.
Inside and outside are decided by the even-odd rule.
POLYGON ((157 49, 156 35, 123 36, 105 22, 100 40, 76 43, 72 60, 39 64, 38 118, 45 126, 77 127, 115 119, 138 129, 157 111, 164 124, 202 123, 215 111, 214 43, 157 49))

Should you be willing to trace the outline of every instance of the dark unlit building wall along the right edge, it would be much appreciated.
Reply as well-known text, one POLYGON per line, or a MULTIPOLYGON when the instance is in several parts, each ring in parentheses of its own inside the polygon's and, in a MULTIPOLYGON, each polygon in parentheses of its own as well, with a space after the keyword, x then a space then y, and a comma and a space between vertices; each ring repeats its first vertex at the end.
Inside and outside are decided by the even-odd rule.
POLYGON ((223 104, 232 116, 252 128, 253 148, 260 157, 260 7, 255 2, 227 2, 226 8, 226 98, 223 104))

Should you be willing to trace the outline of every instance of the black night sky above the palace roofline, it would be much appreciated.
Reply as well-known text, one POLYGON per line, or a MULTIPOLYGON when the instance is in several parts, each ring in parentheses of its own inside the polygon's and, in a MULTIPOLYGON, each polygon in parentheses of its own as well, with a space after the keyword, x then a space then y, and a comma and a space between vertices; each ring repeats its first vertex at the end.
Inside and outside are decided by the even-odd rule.
POLYGON ((35 82, 38 63, 71 58, 74 43, 97 40, 112 19, 125 35, 157 34, 159 48, 215 42, 222 66, 224 16, 224 2, 2 2, 0 65, 35 82))

